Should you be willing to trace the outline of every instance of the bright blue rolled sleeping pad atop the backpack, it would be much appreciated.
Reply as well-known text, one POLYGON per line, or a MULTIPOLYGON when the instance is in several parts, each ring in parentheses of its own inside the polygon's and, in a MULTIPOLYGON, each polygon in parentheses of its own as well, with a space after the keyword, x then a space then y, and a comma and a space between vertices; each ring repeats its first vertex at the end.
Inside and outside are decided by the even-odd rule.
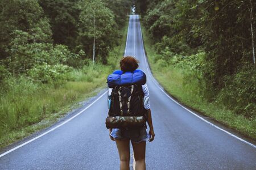
POLYGON ((146 83, 146 74, 142 70, 123 72, 116 70, 108 76, 108 87, 124 86, 129 84, 143 85, 146 83))

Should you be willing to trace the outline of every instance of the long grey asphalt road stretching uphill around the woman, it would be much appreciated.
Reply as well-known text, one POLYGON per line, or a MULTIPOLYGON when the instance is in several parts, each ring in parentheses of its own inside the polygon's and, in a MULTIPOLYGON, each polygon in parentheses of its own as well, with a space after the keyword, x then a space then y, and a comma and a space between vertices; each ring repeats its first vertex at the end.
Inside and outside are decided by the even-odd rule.
MULTIPOLYGON (((144 58, 140 27, 139 16, 131 15, 125 55, 139 59, 150 90, 156 137, 146 146, 147 169, 256 169, 255 145, 164 94, 144 58)), ((118 169, 117 148, 105 128, 106 99, 104 91, 65 120, 2 152, 0 169, 118 169)))

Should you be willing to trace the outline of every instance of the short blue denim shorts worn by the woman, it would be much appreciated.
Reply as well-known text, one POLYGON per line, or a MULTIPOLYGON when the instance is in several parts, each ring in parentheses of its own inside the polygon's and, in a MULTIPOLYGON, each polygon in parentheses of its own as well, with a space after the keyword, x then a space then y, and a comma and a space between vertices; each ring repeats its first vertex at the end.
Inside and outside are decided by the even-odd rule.
POLYGON ((110 135, 115 139, 130 139, 131 142, 135 143, 147 141, 147 139, 149 139, 146 127, 139 129, 112 129, 110 135))

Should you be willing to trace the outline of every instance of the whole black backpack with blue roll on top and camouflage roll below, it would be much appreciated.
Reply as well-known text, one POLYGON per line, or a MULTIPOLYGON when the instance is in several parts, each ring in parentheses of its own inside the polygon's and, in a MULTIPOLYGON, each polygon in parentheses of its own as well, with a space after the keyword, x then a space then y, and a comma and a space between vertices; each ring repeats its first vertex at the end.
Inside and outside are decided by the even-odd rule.
POLYGON ((127 129, 146 125, 142 89, 145 83, 146 75, 141 70, 126 73, 114 71, 108 76, 108 87, 112 88, 112 94, 106 128, 127 129))

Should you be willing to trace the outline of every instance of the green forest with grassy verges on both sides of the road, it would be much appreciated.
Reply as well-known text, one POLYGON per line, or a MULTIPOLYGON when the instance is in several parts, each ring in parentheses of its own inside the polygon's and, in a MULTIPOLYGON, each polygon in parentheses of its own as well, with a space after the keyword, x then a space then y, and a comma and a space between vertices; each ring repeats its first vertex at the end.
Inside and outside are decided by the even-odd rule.
POLYGON ((162 86, 256 139, 255 1, 1 0, 0 147, 106 85, 133 3, 162 86))

